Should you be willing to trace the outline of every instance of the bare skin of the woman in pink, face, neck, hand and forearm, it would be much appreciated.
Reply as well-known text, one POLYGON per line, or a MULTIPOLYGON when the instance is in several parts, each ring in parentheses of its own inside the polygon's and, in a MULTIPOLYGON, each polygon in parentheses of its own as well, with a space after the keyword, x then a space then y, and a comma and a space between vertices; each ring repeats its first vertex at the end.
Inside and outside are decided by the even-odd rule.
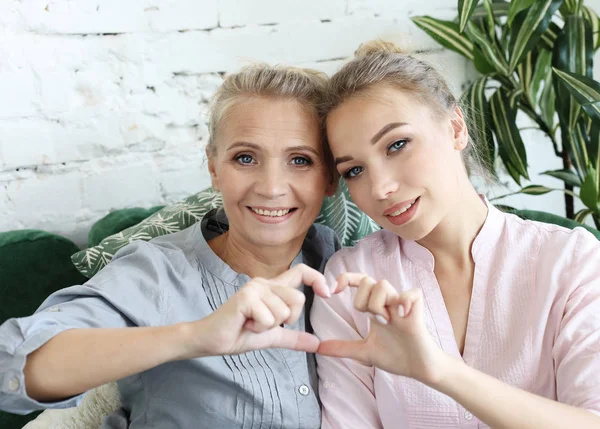
MULTIPOLYGON (((438 115, 412 94, 379 86, 331 112, 327 130, 338 171, 358 207, 433 254, 462 351, 475 268, 471 246, 487 216, 461 159, 468 144, 462 113, 455 109, 438 115), (380 132, 398 123, 407 125, 380 132), (395 225, 385 216, 390 207, 417 197, 417 210, 407 223, 395 225)), ((417 379, 454 398, 490 427, 599 427, 600 418, 586 410, 509 386, 446 354, 427 331, 420 289, 398 294, 387 281, 362 273, 340 276, 335 292, 346 287, 358 289, 357 310, 375 315, 371 331, 361 341, 322 342, 319 353, 417 379)))

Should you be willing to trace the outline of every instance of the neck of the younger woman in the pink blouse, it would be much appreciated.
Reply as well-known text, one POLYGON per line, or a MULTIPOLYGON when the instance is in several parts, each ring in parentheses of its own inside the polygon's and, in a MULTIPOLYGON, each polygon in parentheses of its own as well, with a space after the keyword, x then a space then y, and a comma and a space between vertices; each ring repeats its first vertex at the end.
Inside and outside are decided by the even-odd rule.
POLYGON ((485 223, 488 208, 470 183, 464 188, 459 203, 450 208, 433 231, 418 241, 433 254, 436 270, 444 267, 462 270, 473 264, 471 248, 485 223))

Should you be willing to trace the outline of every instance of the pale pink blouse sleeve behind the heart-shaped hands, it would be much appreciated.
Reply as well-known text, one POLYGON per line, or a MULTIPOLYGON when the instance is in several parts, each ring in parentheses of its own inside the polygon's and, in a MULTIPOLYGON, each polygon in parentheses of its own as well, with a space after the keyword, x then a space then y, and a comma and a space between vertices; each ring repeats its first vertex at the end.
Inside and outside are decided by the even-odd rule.
MULTIPOLYGON (((347 271, 359 270, 346 267, 340 253, 334 255, 325 269, 327 282, 335 284, 335 279, 347 271)), ((350 288, 329 299, 315 297, 311 322, 319 339, 362 339, 352 316, 352 302, 350 288)), ((316 356, 322 429, 382 428, 375 399, 374 367, 352 359, 316 356)))

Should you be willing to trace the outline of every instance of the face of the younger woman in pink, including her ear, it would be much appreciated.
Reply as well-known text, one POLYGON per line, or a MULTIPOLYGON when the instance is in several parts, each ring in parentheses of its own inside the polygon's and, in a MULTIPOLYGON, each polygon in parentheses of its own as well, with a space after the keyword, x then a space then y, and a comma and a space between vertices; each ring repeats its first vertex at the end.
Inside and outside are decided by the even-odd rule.
POLYGON ((379 87, 327 118, 336 168, 354 202, 402 238, 427 236, 460 202, 468 136, 457 112, 458 120, 438 117, 414 95, 379 87))

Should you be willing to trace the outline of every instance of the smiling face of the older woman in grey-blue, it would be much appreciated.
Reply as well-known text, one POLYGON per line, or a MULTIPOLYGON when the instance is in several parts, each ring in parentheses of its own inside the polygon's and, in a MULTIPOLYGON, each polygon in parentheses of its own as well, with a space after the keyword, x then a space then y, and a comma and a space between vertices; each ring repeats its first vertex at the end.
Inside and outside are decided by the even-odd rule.
POLYGON ((252 246, 300 245, 331 194, 318 120, 293 100, 252 98, 231 107, 209 169, 229 233, 252 246))

